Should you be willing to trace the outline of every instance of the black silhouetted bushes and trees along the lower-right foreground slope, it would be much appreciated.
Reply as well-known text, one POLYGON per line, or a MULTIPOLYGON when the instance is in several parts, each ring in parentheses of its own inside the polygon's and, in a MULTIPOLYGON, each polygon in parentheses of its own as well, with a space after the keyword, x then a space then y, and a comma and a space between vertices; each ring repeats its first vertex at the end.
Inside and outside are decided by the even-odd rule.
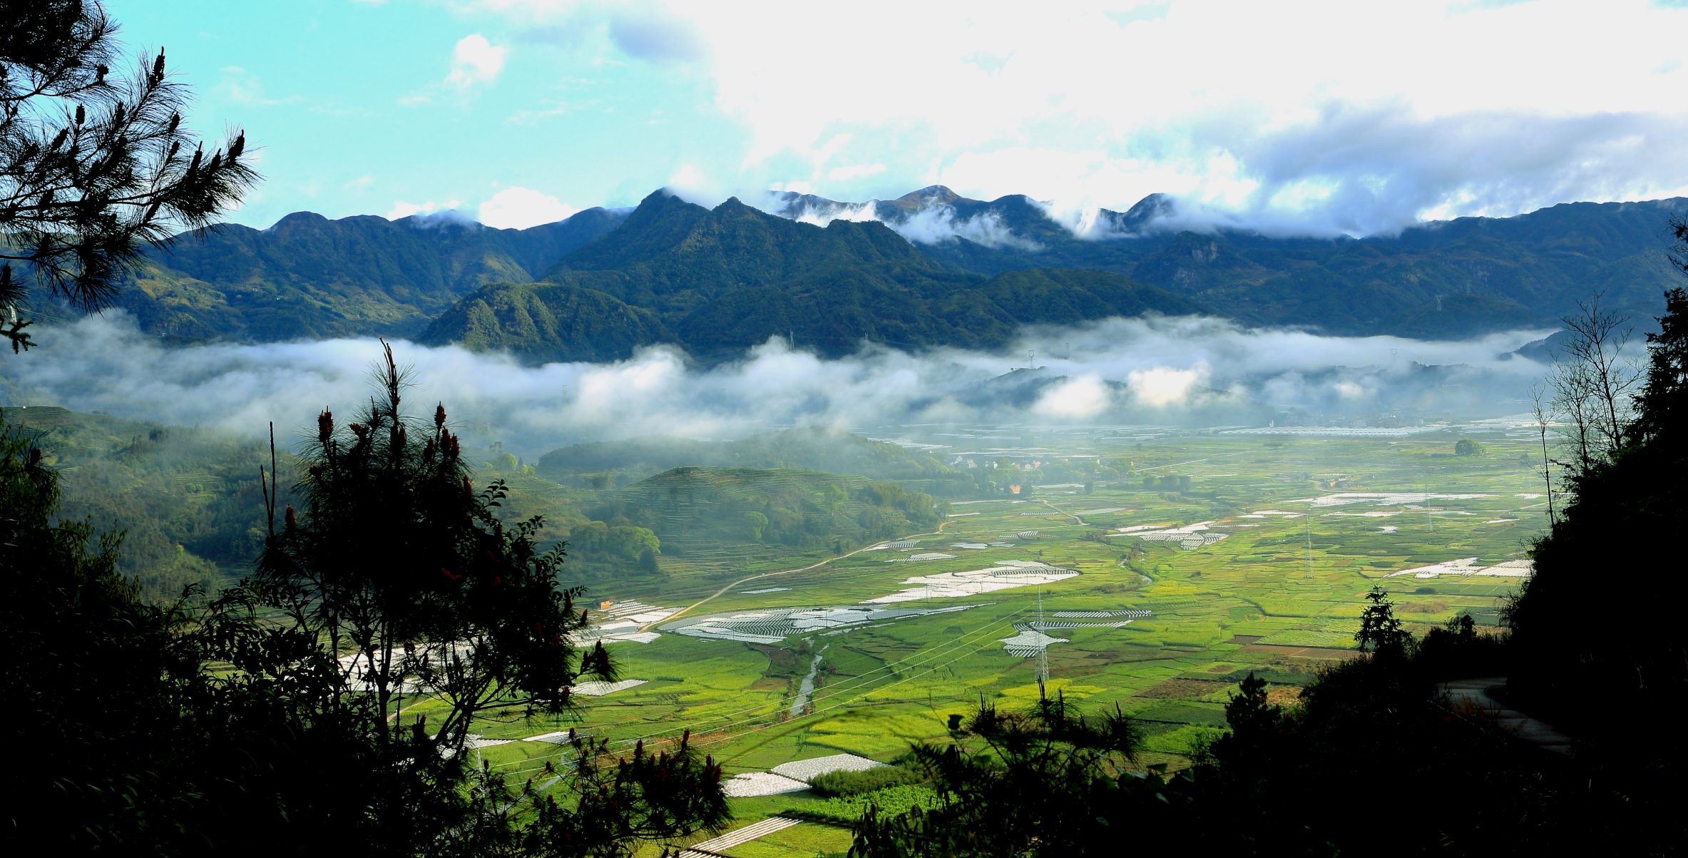
MULTIPOLYGON (((1688 292, 1666 301, 1631 417, 1612 409, 1602 429, 1570 415, 1573 437, 1600 443, 1565 463, 1570 502, 1501 635, 1462 615, 1415 638, 1376 589, 1357 633, 1369 657, 1323 671, 1290 708, 1251 674, 1225 708, 1231 730, 1177 774, 1138 765, 1141 736, 1119 713, 981 703, 954 725, 957 743, 915 748, 940 801, 868 812, 852 855, 1680 855, 1688 652, 1669 623, 1592 630, 1580 586, 1610 574, 1614 534, 1674 532, 1685 512, 1688 292), (1509 677, 1496 694, 1570 733, 1570 753, 1442 687, 1467 677, 1509 677)), ((1585 380, 1560 397, 1599 405, 1622 383, 1599 367, 1585 380)), ((1656 539, 1622 552, 1642 598, 1681 603, 1673 551, 1656 539)))

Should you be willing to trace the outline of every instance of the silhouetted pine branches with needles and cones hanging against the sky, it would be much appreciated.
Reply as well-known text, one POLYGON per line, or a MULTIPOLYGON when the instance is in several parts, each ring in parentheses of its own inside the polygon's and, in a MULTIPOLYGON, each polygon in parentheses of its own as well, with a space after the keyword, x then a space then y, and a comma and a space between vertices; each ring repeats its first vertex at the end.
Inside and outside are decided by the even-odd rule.
POLYGON ((17 351, 29 282, 108 306, 145 245, 209 225, 258 176, 241 132, 208 155, 182 125, 164 51, 113 76, 96 0, 0 0, 0 334, 17 351))

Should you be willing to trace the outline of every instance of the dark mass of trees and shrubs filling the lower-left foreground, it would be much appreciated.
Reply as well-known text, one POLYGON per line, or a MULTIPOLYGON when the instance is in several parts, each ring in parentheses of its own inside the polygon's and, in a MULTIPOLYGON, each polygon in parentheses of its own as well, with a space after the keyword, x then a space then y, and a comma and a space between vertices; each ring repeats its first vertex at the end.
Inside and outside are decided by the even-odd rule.
POLYGON ((17 600, 0 618, 20 659, 0 682, 51 731, 24 750, 47 782, 8 802, 7 838, 611 858, 729 819, 721 767, 689 740, 631 758, 576 741, 522 784, 473 765, 478 716, 569 718, 571 687, 614 669, 574 645, 589 613, 557 586, 562 549, 535 547, 537 520, 498 519, 501 488, 471 486, 442 407, 402 410, 390 355, 378 375, 354 422, 322 414, 302 512, 277 522, 270 493, 255 574, 211 601, 140 601, 113 573, 116 537, 91 551, 89 527, 49 524, 57 478, 7 436, 0 574, 17 600))

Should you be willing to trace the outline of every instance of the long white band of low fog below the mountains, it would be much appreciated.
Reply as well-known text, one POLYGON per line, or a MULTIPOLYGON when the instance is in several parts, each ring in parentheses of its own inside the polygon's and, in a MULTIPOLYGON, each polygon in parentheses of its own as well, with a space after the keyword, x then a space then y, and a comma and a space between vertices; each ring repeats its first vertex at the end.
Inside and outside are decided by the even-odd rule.
MULTIPOLYGON (((1258 424, 1291 409, 1376 417, 1491 417, 1524 410, 1543 365, 1509 355, 1548 331, 1457 343, 1244 329, 1207 318, 1107 319, 1028 328, 1008 353, 866 346, 824 360, 780 339, 743 360, 687 365, 650 348, 619 363, 522 367, 501 355, 395 343, 415 370, 408 400, 444 402, 456 422, 490 424, 508 449, 643 434, 743 437, 782 426, 1258 424), (1013 372, 1028 365, 1041 370, 1013 372), (1006 377, 1004 377, 1006 375, 1006 377)), ((123 314, 37 331, 0 358, 0 402, 280 434, 368 395, 375 339, 165 348, 123 314)), ((479 432, 476 432, 479 434, 479 432)))

